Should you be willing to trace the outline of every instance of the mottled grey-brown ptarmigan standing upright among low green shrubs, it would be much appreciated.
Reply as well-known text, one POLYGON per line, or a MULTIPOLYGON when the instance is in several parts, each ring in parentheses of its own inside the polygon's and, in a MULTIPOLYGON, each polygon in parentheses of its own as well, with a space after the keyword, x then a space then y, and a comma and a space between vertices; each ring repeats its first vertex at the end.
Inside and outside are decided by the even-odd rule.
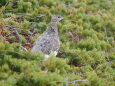
POLYGON ((51 22, 35 42, 32 52, 42 52, 45 54, 45 58, 49 58, 49 54, 57 55, 60 47, 60 41, 58 36, 57 22, 63 18, 60 15, 52 16, 51 22))

